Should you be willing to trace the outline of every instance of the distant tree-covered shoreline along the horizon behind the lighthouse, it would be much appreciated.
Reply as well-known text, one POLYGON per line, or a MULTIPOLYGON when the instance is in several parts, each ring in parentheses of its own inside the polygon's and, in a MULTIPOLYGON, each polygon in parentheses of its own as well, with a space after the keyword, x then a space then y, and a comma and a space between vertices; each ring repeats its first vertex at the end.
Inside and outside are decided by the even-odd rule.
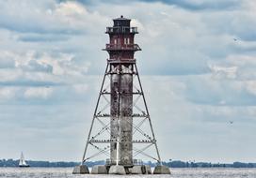
MULTIPOLYGON (((68 161, 26 161, 31 167, 39 168, 69 168, 79 165, 80 162, 68 162, 68 161)), ((88 167, 94 165, 104 165, 104 160, 99 161, 88 161, 86 164, 88 167)), ((155 162, 144 162, 145 165, 150 165, 155 167, 157 164, 155 162)), ((164 165, 170 168, 256 168, 256 163, 244 163, 244 162, 233 162, 233 163, 211 163, 211 162, 184 162, 181 160, 173 160, 168 162, 163 162, 164 165)), ((18 167, 19 160, 14 159, 0 159, 0 167, 18 167)))

